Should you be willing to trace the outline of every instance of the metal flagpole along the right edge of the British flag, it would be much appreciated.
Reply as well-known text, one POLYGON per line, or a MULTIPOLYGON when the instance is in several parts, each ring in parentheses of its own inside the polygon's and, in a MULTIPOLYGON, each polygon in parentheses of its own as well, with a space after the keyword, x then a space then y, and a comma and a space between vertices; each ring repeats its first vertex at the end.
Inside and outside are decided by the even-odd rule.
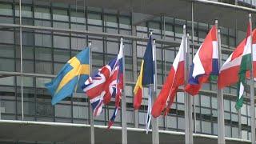
MULTIPOLYGON (((123 48, 123 38, 120 39, 120 47, 123 48)), ((122 49, 122 73, 123 73, 123 90, 122 90, 122 144, 127 143, 127 126, 126 126, 126 61, 125 52, 122 49)))

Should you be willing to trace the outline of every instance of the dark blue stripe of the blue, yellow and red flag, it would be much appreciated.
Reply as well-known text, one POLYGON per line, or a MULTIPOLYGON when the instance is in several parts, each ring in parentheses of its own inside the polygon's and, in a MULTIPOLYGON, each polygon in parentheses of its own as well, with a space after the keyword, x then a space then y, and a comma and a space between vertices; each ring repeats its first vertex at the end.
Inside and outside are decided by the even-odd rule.
POLYGON ((142 86, 146 86, 154 83, 154 62, 152 53, 152 36, 150 35, 149 42, 147 42, 146 51, 144 53, 143 60, 143 74, 142 74, 142 86))

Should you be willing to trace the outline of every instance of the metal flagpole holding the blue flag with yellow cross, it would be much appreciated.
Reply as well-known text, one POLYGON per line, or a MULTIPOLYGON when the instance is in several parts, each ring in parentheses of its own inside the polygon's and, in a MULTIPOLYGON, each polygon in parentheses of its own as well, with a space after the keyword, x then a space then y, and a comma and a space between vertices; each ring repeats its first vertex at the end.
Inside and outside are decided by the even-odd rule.
MULTIPOLYGON (((90 75, 89 76, 91 76, 92 75, 92 57, 91 57, 91 42, 89 42, 89 46, 88 46, 88 48, 89 48, 89 64, 90 64, 90 75)), ((90 105, 90 101, 88 101, 88 105, 90 106, 90 144, 94 144, 95 143, 95 140, 94 140, 94 112, 93 112, 93 109, 92 109, 92 107, 91 107, 91 105, 90 105)))

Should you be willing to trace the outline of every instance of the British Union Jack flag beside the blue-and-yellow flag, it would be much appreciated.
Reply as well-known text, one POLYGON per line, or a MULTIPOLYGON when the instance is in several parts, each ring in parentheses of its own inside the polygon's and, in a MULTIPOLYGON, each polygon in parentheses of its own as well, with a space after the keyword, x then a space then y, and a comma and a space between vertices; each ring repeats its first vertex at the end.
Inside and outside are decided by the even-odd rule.
POLYGON ((94 110, 94 116, 102 113, 102 106, 108 104, 111 98, 115 99, 114 114, 110 118, 109 126, 113 125, 118 114, 119 103, 123 89, 122 70, 122 43, 118 57, 112 59, 106 66, 103 66, 92 77, 88 78, 82 90, 90 98, 90 104, 94 110))

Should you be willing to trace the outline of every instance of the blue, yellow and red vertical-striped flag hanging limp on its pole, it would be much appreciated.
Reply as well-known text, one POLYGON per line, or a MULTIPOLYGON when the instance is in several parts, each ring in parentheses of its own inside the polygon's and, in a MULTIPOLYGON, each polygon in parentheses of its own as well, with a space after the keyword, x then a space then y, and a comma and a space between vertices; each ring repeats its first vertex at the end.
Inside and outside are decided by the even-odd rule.
POLYGON ((150 39, 147 43, 146 51, 142 59, 140 74, 134 87, 134 110, 138 110, 142 104, 143 86, 148 86, 154 83, 154 62, 152 48, 152 36, 150 35, 150 39))

